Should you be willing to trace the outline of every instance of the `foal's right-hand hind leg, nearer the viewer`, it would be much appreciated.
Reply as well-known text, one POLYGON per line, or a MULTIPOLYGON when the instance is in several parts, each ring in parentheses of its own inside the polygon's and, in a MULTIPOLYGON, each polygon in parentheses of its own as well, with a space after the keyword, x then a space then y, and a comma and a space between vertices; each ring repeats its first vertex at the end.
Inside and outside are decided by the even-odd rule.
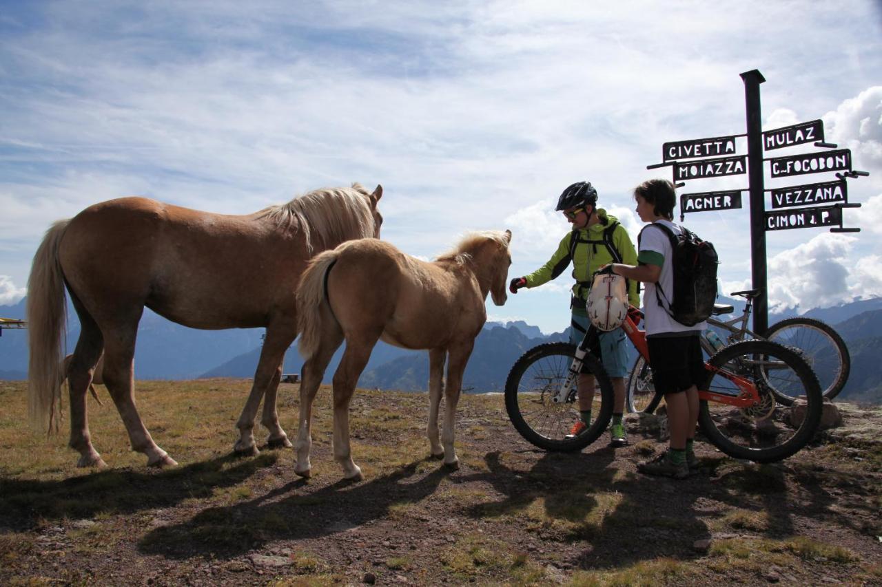
POLYGON ((381 332, 347 338, 340 367, 333 375, 333 457, 343 467, 345 479, 364 479, 362 470, 352 460, 349 447, 349 401, 381 332))

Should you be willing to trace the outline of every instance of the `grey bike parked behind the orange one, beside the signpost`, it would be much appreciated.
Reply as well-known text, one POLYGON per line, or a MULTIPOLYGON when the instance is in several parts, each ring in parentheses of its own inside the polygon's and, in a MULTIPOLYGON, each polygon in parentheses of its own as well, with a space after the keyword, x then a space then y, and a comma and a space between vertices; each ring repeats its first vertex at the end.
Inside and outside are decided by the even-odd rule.
MULTIPOLYGON (((815 375, 818 376, 822 395, 827 399, 835 398, 848 382, 848 373, 851 370, 851 357, 848 354, 845 341, 830 325, 814 318, 805 317, 781 320, 781 322, 772 324, 766 330, 765 336, 758 336, 755 332, 747 329, 747 321, 751 316, 753 299, 759 292, 759 289, 750 289, 731 294, 744 297, 746 300, 744 311, 740 316, 729 321, 708 318, 709 328, 706 331, 708 336, 701 338, 702 349, 710 356, 719 350, 718 346, 738 342, 745 338, 772 340, 781 345, 793 347, 797 349, 797 352, 802 355, 815 375), (714 346, 714 342, 717 346, 714 346)), ((714 305, 714 316, 731 314, 734 311, 735 308, 730 305, 714 305)), ((773 388, 773 390, 776 399, 781 404, 793 403, 795 397, 789 396, 777 388, 773 388)), ((628 377, 626 392, 628 411, 652 413, 661 400, 662 396, 655 393, 652 369, 649 368, 643 357, 638 356, 631 369, 631 375, 628 377)))

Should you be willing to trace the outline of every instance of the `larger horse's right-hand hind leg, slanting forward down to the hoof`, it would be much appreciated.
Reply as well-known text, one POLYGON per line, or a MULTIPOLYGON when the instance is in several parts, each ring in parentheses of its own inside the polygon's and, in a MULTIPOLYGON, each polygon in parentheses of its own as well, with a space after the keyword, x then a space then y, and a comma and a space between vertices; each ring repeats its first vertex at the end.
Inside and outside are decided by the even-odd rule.
MULTIPOLYGON (((104 384, 116 404, 116 410, 123 419, 129 433, 131 450, 143 452, 147 456, 147 466, 161 467, 177 464, 165 450, 156 446, 153 437, 147 432, 144 422, 135 407, 134 357, 135 336, 138 320, 115 328, 104 327, 104 384)), ((85 397, 86 390, 83 390, 85 397)))

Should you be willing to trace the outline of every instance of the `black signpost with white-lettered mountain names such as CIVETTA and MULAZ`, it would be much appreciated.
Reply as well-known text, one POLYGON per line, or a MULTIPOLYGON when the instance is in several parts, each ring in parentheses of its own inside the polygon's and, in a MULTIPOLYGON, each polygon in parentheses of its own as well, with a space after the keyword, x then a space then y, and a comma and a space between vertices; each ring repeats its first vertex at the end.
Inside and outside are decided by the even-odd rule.
MULTIPOLYGON (((745 134, 664 143, 663 162, 647 166, 647 169, 672 167, 676 187, 684 185, 678 182, 747 174, 751 212, 751 278, 753 287, 761 291, 754 298, 753 331, 765 332, 768 326, 766 232, 816 227, 829 227, 833 233, 860 232, 860 228, 842 227, 842 210, 859 208, 861 205, 848 203, 846 179, 869 174, 852 169, 848 149, 836 149, 836 145, 825 142, 824 122, 821 120, 764 132, 759 85, 766 78, 757 70, 745 71, 741 78, 744 81, 745 134), (738 137, 747 137, 746 155, 736 152, 738 137), (808 144, 832 150, 763 158, 764 151, 808 144), (769 162, 769 174, 773 178, 836 172, 838 181, 765 189, 763 165, 766 161, 769 162), (770 212, 766 212, 766 193, 771 195, 770 212)), ((684 218, 686 212, 741 208, 743 191, 735 189, 681 194, 680 219, 684 218)))

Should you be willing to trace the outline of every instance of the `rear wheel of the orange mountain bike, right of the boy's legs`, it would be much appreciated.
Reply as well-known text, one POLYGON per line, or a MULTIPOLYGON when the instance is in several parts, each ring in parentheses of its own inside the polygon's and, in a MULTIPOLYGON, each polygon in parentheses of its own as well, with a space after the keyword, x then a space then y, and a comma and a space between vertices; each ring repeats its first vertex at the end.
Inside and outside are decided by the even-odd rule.
POLYGON ((767 340, 745 340, 721 349, 708 365, 702 389, 738 396, 740 390, 732 381, 736 375, 753 383, 760 398, 759 405, 749 408, 699 402, 701 429, 718 449, 730 457, 769 463, 793 455, 811 441, 824 398, 818 378, 798 353, 767 340), (773 386, 792 398, 804 396, 804 401, 782 405, 773 386), (794 424, 796 411, 804 411, 804 418, 794 424))

